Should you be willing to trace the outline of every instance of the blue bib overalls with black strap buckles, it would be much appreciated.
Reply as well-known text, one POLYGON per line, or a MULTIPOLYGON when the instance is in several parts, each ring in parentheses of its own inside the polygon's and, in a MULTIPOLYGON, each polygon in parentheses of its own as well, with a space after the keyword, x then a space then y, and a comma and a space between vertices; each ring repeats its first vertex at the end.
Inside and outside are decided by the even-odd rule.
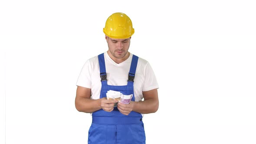
MULTIPOLYGON (((138 62, 138 56, 133 55, 127 85, 114 86, 107 84, 104 53, 98 55, 102 89, 100 98, 106 97, 108 90, 121 92, 124 95, 133 94, 133 80, 138 62)), ((123 115, 117 107, 111 112, 100 109, 92 113, 92 125, 89 129, 88 144, 145 144, 145 131, 142 115, 131 111, 123 115)))

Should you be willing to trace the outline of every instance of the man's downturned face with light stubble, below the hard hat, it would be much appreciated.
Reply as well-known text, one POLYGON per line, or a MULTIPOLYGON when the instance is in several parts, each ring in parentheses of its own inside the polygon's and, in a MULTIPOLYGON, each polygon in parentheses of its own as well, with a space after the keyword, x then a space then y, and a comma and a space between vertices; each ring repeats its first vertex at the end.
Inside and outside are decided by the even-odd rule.
POLYGON ((128 49, 130 47, 130 39, 112 39, 108 36, 105 36, 105 39, 108 43, 108 52, 112 55, 112 59, 127 59, 128 58, 128 49))

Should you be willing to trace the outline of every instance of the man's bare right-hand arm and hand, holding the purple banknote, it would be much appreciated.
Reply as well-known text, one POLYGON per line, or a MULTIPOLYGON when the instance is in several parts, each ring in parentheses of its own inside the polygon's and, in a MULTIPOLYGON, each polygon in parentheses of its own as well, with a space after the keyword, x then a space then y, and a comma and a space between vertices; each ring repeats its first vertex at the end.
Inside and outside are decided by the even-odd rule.
POLYGON ((131 111, 136 111, 142 114, 149 114, 158 111, 158 90, 152 89, 143 92, 144 101, 131 101, 130 104, 125 105, 118 103, 119 111, 128 115, 131 111))

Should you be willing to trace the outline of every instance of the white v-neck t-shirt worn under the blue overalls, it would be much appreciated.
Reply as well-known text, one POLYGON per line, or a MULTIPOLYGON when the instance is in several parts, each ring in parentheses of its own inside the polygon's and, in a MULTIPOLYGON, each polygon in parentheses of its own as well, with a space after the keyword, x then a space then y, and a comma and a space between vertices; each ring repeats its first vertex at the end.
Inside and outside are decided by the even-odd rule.
MULTIPOLYGON (((132 54, 124 62, 115 63, 107 52, 104 52, 105 67, 108 85, 127 85, 128 74, 131 66, 132 54)), ((100 98, 101 79, 98 64, 98 56, 85 62, 76 83, 77 86, 91 88, 91 98, 100 98)), ((141 101, 142 92, 158 88, 158 82, 151 65, 144 59, 139 58, 134 79, 135 101, 141 101)))

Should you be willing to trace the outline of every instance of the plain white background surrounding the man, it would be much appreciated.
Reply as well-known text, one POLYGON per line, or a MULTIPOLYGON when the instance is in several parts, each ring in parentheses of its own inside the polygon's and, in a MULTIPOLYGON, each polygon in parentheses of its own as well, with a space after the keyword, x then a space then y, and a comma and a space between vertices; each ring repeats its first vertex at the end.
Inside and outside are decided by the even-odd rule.
POLYGON ((130 52, 148 60, 160 105, 147 144, 256 144, 253 0, 2 0, 0 143, 86 144, 91 116, 75 109, 84 62, 126 13, 130 52))

